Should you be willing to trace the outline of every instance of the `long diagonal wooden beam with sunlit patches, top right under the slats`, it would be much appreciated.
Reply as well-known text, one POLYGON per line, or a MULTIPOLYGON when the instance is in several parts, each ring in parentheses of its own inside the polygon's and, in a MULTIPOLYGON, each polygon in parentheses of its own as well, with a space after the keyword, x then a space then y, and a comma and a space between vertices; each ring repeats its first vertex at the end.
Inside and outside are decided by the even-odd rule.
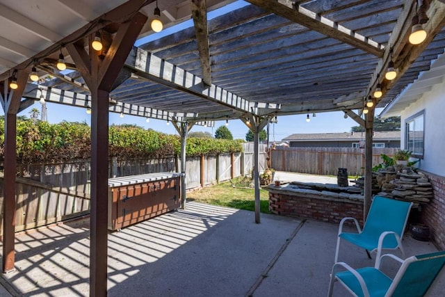
POLYGON ((330 38, 341 40, 342 42, 362 49, 369 54, 381 57, 383 56, 383 46, 360 35, 345 26, 341 26, 337 22, 332 22, 321 15, 318 15, 302 6, 295 5, 292 1, 273 1, 273 0, 246 0, 264 10, 280 15, 307 27, 308 29, 317 31, 330 38), (295 6, 294 6, 295 5, 295 6))

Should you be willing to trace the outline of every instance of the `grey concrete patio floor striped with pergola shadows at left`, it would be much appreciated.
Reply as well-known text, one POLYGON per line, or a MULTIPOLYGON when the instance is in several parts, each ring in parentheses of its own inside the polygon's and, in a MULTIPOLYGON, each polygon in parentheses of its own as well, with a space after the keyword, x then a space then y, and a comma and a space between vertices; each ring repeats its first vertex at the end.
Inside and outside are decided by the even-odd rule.
MULTIPOLYGON (((270 214, 256 224, 252 211, 188 202, 108 234, 108 296, 326 296, 337 230, 270 214)), ((0 296, 88 296, 88 236, 88 219, 17 234, 17 271, 3 274, 0 296)), ((437 250, 408 234, 403 244, 408 256, 437 250)), ((339 259, 373 265, 348 243, 339 259)), ((444 289, 442 273, 432 296, 444 289)), ((336 284, 334 296, 347 295, 336 284)))

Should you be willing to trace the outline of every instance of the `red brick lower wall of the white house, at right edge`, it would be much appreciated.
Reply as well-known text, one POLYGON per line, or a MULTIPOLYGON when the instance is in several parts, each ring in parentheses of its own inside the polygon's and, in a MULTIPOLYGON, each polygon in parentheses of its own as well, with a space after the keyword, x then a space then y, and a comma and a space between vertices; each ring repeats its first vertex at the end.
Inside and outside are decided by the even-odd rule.
POLYGON ((434 198, 423 205, 421 223, 430 227, 431 241, 435 246, 439 250, 445 250, 445 177, 422 172, 430 179, 434 198))

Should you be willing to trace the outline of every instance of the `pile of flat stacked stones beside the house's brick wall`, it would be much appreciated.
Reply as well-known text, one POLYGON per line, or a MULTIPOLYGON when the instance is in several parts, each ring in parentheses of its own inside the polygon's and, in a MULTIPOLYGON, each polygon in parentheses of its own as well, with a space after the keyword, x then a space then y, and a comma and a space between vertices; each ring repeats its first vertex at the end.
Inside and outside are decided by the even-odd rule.
POLYGON ((432 186, 426 175, 414 172, 410 167, 395 173, 396 178, 392 179, 394 173, 386 172, 385 181, 382 182, 382 192, 378 193, 379 195, 414 203, 430 202, 432 186))

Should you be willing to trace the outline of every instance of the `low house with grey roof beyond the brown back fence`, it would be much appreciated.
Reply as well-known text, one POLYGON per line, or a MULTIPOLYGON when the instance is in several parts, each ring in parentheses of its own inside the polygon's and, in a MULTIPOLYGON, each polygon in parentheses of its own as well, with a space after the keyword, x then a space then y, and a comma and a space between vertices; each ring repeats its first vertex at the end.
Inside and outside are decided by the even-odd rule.
MULTIPOLYGON (((283 138, 291 147, 364 147, 365 132, 292 134, 283 138)), ((375 131, 373 147, 401 147, 400 131, 375 131)))

